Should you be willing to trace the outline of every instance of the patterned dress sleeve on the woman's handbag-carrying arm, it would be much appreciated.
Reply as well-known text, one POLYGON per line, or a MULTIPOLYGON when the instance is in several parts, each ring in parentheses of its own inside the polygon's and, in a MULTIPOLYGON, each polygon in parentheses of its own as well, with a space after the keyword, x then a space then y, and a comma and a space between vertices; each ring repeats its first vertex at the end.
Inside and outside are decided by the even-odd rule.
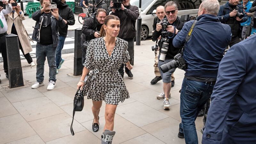
POLYGON ((84 67, 89 70, 93 70, 92 62, 94 61, 94 44, 93 40, 91 40, 87 46, 86 56, 84 61, 84 67))

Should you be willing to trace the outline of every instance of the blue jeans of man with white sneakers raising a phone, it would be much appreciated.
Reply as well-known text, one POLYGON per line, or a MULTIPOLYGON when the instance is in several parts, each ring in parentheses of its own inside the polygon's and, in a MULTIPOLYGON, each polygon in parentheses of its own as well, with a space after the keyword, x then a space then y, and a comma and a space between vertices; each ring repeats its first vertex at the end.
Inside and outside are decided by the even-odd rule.
POLYGON ((41 83, 44 81, 44 62, 47 57, 49 65, 49 81, 56 82, 56 47, 53 44, 42 45, 36 44, 36 81, 41 83))

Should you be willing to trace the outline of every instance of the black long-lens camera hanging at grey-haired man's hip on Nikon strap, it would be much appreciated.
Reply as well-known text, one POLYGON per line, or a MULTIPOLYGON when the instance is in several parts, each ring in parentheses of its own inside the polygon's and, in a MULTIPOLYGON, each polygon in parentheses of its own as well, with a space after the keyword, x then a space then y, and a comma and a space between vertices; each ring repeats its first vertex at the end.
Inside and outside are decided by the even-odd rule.
POLYGON ((180 69, 187 68, 186 61, 184 60, 183 54, 181 54, 181 53, 178 53, 177 55, 175 55, 174 60, 160 66, 163 73, 171 70, 172 68, 177 68, 177 67, 180 69))

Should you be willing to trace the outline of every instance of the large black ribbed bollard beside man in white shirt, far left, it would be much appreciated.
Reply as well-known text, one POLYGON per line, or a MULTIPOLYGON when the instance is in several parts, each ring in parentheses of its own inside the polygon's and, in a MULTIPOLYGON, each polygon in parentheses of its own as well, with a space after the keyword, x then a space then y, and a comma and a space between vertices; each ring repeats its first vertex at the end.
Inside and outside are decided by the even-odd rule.
POLYGON ((10 88, 24 86, 18 36, 14 34, 7 35, 5 36, 5 41, 9 86, 10 88))

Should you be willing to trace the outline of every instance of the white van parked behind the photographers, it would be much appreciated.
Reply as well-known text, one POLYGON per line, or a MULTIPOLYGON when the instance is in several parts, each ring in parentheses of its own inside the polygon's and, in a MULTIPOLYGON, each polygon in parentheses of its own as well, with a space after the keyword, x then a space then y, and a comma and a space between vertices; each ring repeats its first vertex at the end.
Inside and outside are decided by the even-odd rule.
MULTIPOLYGON (((153 13, 153 11, 156 10, 157 6, 164 6, 169 1, 170 0, 141 0, 141 40, 146 40, 148 36, 152 36, 153 21, 156 17, 156 14, 153 13)), ((198 8, 202 1, 203 0, 177 0, 176 2, 179 9, 178 16, 180 17, 180 15, 183 14, 190 14, 192 16, 196 16, 198 13, 198 8)), ((130 4, 139 7, 139 0, 131 0, 130 4)))

